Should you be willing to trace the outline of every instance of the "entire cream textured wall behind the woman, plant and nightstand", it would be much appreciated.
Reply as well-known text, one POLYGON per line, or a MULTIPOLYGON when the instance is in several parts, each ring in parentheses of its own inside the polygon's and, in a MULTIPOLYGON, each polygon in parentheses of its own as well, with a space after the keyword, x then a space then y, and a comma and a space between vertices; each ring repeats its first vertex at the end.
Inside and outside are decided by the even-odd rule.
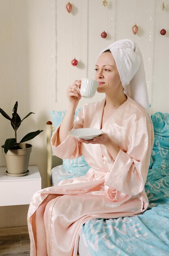
MULTIPOLYGON (((169 3, 162 11, 159 0, 1 0, 0 1, 0 108, 11 115, 18 100, 24 120, 18 137, 42 129, 33 144, 30 165, 37 165, 46 186, 46 121, 51 109, 66 109, 66 88, 75 79, 94 77, 94 64, 99 52, 122 38, 135 40, 145 63, 151 112, 169 111, 169 3), (132 26, 139 27, 134 36, 132 26), (165 28, 167 34, 160 35, 165 28), (101 32, 108 33, 101 38, 101 32), (70 61, 76 57, 77 67, 70 61)), ((79 106, 97 101, 82 99, 79 106)), ((9 121, 0 116, 0 144, 13 137, 9 121)), ((0 166, 5 166, 0 154, 0 166)), ((22 192, 21 192, 22 193, 22 192)), ((24 225, 27 206, 0 208, 0 227, 24 225), (15 216, 11 217, 10 213, 15 216), (18 221, 18 215, 20 216, 18 221)))

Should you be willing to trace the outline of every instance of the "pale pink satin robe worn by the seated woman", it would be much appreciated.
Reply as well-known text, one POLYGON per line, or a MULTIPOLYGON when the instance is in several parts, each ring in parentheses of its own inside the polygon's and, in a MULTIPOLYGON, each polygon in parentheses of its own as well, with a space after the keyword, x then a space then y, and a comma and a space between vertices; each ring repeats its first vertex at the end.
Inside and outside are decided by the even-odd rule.
MULTIPOLYGON (((85 105, 74 128, 100 129, 104 105, 105 99, 85 105)), ((36 255, 31 226, 33 213, 48 194, 56 194, 45 223, 48 256, 77 256, 79 229, 91 218, 134 216, 149 206, 144 186, 154 130, 140 105, 127 97, 102 127, 120 148, 115 161, 105 146, 81 144, 70 135, 57 145, 58 130, 59 127, 51 139, 53 153, 60 158, 83 154, 91 168, 85 176, 64 180, 33 195, 28 213, 31 256, 36 255)))

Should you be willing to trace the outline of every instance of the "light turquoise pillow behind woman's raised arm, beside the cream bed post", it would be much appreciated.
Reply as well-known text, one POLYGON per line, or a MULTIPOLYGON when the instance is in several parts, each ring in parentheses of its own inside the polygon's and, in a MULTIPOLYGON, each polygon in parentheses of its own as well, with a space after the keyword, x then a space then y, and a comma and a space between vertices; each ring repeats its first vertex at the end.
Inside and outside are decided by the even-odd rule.
MULTIPOLYGON (((78 112, 81 108, 77 108, 75 111, 75 117, 77 116, 78 112)), ((63 120, 66 110, 63 111, 50 111, 52 116, 53 124, 55 128, 59 126, 61 121, 63 120)), ((90 166, 86 163, 83 155, 81 157, 77 157, 75 159, 63 159, 63 166, 69 173, 73 173, 75 175, 85 175, 87 171, 90 169, 90 166)))

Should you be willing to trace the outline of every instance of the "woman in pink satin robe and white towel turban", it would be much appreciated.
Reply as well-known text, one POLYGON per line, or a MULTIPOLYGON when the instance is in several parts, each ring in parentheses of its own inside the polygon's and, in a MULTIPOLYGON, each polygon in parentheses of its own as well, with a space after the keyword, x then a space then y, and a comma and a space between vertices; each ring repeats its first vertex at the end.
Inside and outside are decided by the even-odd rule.
POLYGON ((103 50, 95 80, 105 99, 85 105, 74 122, 81 99, 81 81, 76 80, 67 90, 65 118, 51 139, 55 155, 83 154, 91 168, 83 177, 64 180, 33 196, 28 213, 31 256, 76 256, 78 232, 87 220, 134 216, 149 206, 144 185, 154 131, 137 45, 119 40, 103 50), (103 133, 87 141, 68 135, 72 128, 86 127, 103 133))

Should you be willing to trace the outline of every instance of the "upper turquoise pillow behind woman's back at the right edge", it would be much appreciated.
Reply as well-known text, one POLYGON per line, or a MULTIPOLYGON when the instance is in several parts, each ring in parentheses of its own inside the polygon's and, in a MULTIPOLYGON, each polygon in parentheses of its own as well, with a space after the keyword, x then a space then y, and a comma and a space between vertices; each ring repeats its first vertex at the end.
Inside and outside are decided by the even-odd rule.
POLYGON ((169 168, 169 113, 156 112, 151 120, 154 126, 152 168, 169 168))

